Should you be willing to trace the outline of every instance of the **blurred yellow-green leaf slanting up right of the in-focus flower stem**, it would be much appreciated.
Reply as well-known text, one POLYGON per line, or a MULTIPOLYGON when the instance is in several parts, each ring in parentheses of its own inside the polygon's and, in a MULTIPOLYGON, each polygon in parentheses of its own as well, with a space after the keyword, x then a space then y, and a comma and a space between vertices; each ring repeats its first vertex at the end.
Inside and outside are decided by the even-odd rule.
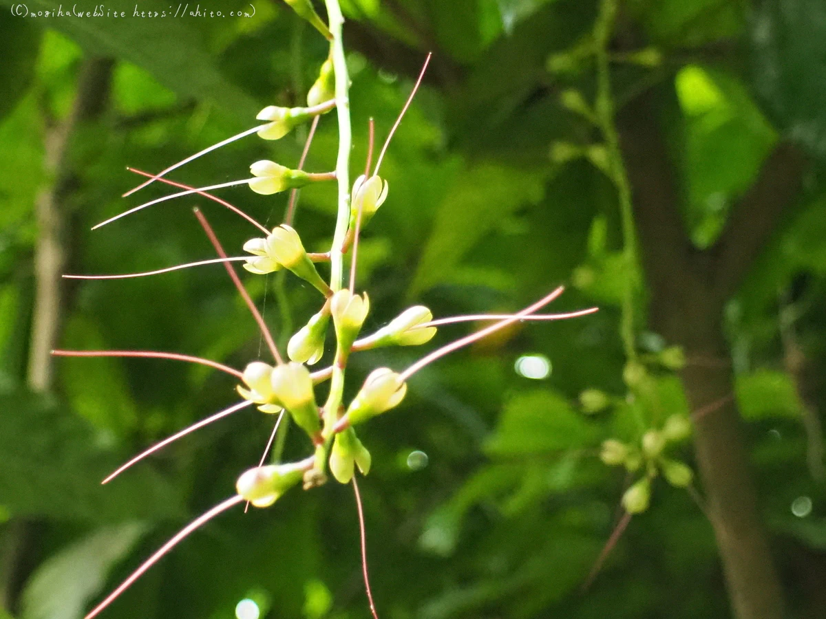
POLYGON ((545 172, 494 163, 480 163, 459 172, 439 207, 433 233, 411 285, 411 295, 448 279, 465 253, 507 215, 525 203, 541 200, 544 177, 545 172))

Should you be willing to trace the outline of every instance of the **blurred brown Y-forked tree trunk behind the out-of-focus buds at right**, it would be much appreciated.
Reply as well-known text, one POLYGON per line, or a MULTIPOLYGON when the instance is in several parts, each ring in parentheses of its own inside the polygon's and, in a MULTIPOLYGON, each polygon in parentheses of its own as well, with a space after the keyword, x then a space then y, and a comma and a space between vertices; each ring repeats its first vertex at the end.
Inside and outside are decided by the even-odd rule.
MULTIPOLYGON (((782 146, 770 157, 761 178, 729 221, 722 259, 712 269, 714 255, 692 247, 681 220, 676 167, 670 161, 658 113, 669 109, 669 101, 657 100, 657 95, 669 93, 673 96, 672 90, 643 93, 625 106, 618 122, 651 287, 649 323, 667 341, 684 347, 688 357, 722 358, 728 355, 722 328, 724 301, 793 196, 796 183, 790 177, 797 176, 799 163, 782 146)), ((722 403, 696 420, 694 442, 734 616, 781 619, 781 584, 757 509, 740 415, 729 398, 731 370, 688 365, 681 379, 692 410, 722 403)))

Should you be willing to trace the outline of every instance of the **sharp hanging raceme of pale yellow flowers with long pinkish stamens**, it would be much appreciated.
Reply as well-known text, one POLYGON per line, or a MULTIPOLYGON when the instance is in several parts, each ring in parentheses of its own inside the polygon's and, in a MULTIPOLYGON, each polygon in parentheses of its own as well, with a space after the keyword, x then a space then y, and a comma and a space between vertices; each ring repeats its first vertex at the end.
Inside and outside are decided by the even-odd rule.
MULTIPOLYGON (((364 381, 361 389, 358 390, 358 394, 349 402, 349 405, 345 406, 346 403, 343 401, 346 379, 345 373, 348 357, 351 352, 390 345, 415 346, 424 344, 434 337, 437 324, 460 322, 467 320, 468 317, 434 321, 430 309, 423 305, 415 305, 399 314, 385 327, 379 328, 376 333, 356 341, 358 333, 363 328, 363 324, 370 310, 368 294, 366 292, 362 295, 354 293, 358 234, 361 227, 368 224, 373 215, 376 214, 377 210, 387 199, 387 181, 378 176, 378 168, 380 168, 382 158, 387 152, 387 147, 393 132, 396 130, 396 127, 398 127, 401 118, 404 116, 404 112, 410 105, 415 89, 421 83, 427 61, 425 61, 425 66, 422 68, 413 92, 411 92, 411 97, 407 99, 400 116, 387 136, 387 140, 377 159, 373 174, 371 175, 370 173, 371 155, 368 156, 365 174, 356 179, 352 186, 352 191, 349 191, 348 158, 352 146, 349 106, 336 105, 337 102, 344 104, 349 100, 349 77, 347 75, 344 50, 341 45, 342 18, 340 16, 339 2, 338 0, 326 0, 328 13, 330 14, 330 24, 333 26, 331 28, 328 28, 328 26, 320 20, 320 17, 318 17, 313 10, 309 0, 287 0, 287 3, 290 4, 301 17, 305 17, 308 21, 311 21, 319 31, 331 39, 330 54, 320 68, 316 83, 313 84, 310 92, 307 94, 308 107, 265 107, 258 115, 258 120, 265 121, 265 124, 246 130, 233 138, 225 139, 221 143, 204 149, 200 153, 192 155, 184 159, 183 162, 176 163, 158 174, 150 174, 148 181, 139 187, 135 187, 131 192, 137 191, 155 180, 162 180, 163 182, 177 185, 185 189, 185 191, 135 207, 125 213, 121 213, 121 215, 113 217, 111 220, 98 224, 96 227, 120 219, 122 216, 129 215, 136 210, 141 210, 159 201, 197 193, 198 195, 220 202, 222 205, 235 210, 236 213, 243 215, 245 219, 261 229, 263 234, 266 234, 263 238, 250 239, 247 243, 244 243, 244 251, 249 254, 248 256, 243 258, 229 258, 221 247, 221 243, 218 241, 216 234, 209 226, 205 215, 203 215, 200 210, 197 210, 196 215, 198 220, 202 224, 216 252, 219 254, 220 259, 215 261, 194 262, 192 266, 213 262, 223 263, 240 295, 242 295, 244 301, 247 303, 250 313, 253 314, 254 319, 259 324, 263 338, 267 341, 270 352, 274 358, 274 366, 264 361, 252 361, 244 368, 244 371, 237 371, 215 361, 175 355, 172 353, 150 354, 128 351, 107 353, 110 354, 110 356, 155 356, 197 361, 205 365, 211 365, 232 376, 240 378, 240 382, 242 383, 237 385, 237 391, 244 401, 230 406, 230 408, 213 415, 211 418, 194 424, 185 431, 178 432, 177 435, 169 437, 166 441, 159 443, 158 446, 146 451, 145 455, 154 453, 154 451, 157 451, 157 448, 176 440, 178 437, 183 437, 194 429, 211 423, 212 420, 223 418, 235 412, 235 410, 249 407, 252 404, 257 405, 259 410, 264 413, 279 413, 279 421, 281 419, 280 415, 284 414, 286 410, 296 425, 311 438, 315 450, 311 456, 301 461, 286 464, 263 465, 264 458, 268 451, 267 448, 264 451, 264 456, 262 456, 259 466, 246 470, 240 475, 235 484, 237 494, 234 497, 226 499, 201 517, 197 517, 188 524, 187 527, 184 527, 181 532, 178 532, 176 536, 173 536, 167 544, 162 546, 149 560, 135 570, 112 594, 98 604, 98 606, 89 613, 87 619, 95 617, 103 608, 107 607, 112 600, 135 582, 135 579, 145 573, 146 569, 154 565, 154 563, 177 544, 178 541, 183 540, 189 533, 195 531, 197 527, 201 527, 212 517, 216 517, 225 510, 239 503, 243 503, 244 500, 254 505, 254 507, 268 507, 278 500, 287 489, 292 488, 293 485, 297 485, 302 479, 304 480, 305 488, 323 483, 325 480, 325 470, 330 470, 335 479, 341 483, 352 481, 358 498, 358 487, 354 477, 356 467, 358 467, 358 470, 360 470, 363 475, 367 475, 372 464, 372 458, 367 447, 359 440, 353 426, 366 423, 376 415, 398 406, 407 393, 406 380, 421 367, 438 360, 440 357, 457 350, 459 347, 476 341, 478 338, 485 337, 488 333, 493 333, 498 328, 512 324, 517 319, 570 318, 596 310, 595 308, 571 314, 550 314, 543 317, 534 315, 535 311, 561 294, 562 289, 558 288, 556 291, 553 291, 553 293, 545 296, 544 299, 522 310, 519 314, 496 317, 483 316, 482 319, 496 319, 496 324, 483 328, 481 331, 473 333, 472 335, 460 338, 453 343, 439 348, 437 351, 430 352, 430 354, 416 361, 401 373, 392 371, 387 367, 380 367, 373 370, 368 375, 367 380, 364 381), (312 118, 313 125, 305 147, 306 155, 311 136, 313 135, 316 123, 320 119, 320 115, 326 111, 330 111, 333 107, 337 109, 339 120, 339 155, 335 172, 304 172, 301 169, 304 160, 304 155, 302 155, 298 169, 287 168, 269 160, 261 160, 250 166, 252 178, 222 183, 221 185, 211 187, 194 188, 161 179, 167 172, 179 168, 184 163, 188 163, 200 157, 202 154, 210 153, 224 144, 229 144, 235 139, 240 139, 240 137, 244 137, 244 135, 257 133, 259 137, 263 139, 278 139, 286 135, 287 132, 299 123, 306 122, 306 120, 312 118), (313 263, 314 258, 311 258, 311 254, 306 252, 299 234, 290 225, 286 223, 279 225, 273 229, 272 232, 268 233, 263 225, 256 222, 253 218, 249 217, 249 215, 245 215, 242 211, 229 205, 229 203, 221 201, 207 193, 207 191, 211 191, 212 189, 232 187, 244 183, 249 184, 249 188, 252 191, 263 196, 269 196, 287 189, 294 190, 291 196, 291 206, 287 210, 287 220, 292 221, 292 209, 295 197, 297 196, 295 190, 300 187, 305 187, 311 182, 333 179, 338 181, 339 191, 339 213, 336 218, 336 229, 333 235, 334 243, 329 253, 312 254, 316 260, 330 261, 331 276, 329 284, 321 278, 313 263), (353 259, 350 263, 350 285, 349 288, 347 288, 343 287, 342 280, 344 276, 344 254, 349 251, 349 248, 353 248, 353 259), (243 260, 244 268, 254 275, 264 275, 281 269, 288 270, 301 279, 311 283, 312 286, 315 286, 316 289, 325 296, 321 309, 311 317, 305 326, 301 327, 297 333, 294 333, 292 338, 289 339, 287 353, 290 361, 284 362, 282 360, 272 333, 269 332, 268 326, 263 320, 263 316, 254 305, 254 302, 249 297, 243 283, 235 272, 234 267, 232 267, 231 262, 237 260, 243 260), (322 358, 325 347, 325 336, 330 326, 330 319, 332 319, 333 322, 336 338, 335 361, 332 366, 311 374, 304 364, 314 364, 322 358), (322 380, 330 380, 330 390, 324 406, 320 408, 318 404, 316 404, 315 385, 322 380)), ((430 59, 430 56, 428 56, 428 59, 430 59)), ((369 152, 372 154, 372 140, 369 152)), ((160 272, 166 272, 167 270, 168 269, 162 269, 160 272)), ((142 274, 132 274, 131 276, 140 275, 142 274)), ((478 317, 473 318, 477 319, 478 317)), ((64 353, 74 354, 69 352, 64 353)), ((83 355, 83 353, 78 354, 83 355)), ((88 352, 86 356, 93 356, 95 354, 97 353, 88 352)), ((275 432, 278 431, 278 427, 277 422, 273 430, 273 437, 275 436, 275 432)), ((117 470, 116 473, 120 473, 121 470, 124 470, 127 466, 140 460, 142 457, 143 455, 133 459, 127 463, 127 465, 117 470)), ((672 466, 672 469, 676 471, 672 474, 672 477, 675 479, 680 478, 681 472, 676 470, 676 467, 672 466)), ((684 476, 685 475, 683 475, 683 477, 684 476)), ((358 504, 360 510, 360 503, 358 504)), ((365 584, 367 585, 369 596, 369 584, 366 574, 365 584)), ((376 617, 375 612, 373 616, 376 617)))

